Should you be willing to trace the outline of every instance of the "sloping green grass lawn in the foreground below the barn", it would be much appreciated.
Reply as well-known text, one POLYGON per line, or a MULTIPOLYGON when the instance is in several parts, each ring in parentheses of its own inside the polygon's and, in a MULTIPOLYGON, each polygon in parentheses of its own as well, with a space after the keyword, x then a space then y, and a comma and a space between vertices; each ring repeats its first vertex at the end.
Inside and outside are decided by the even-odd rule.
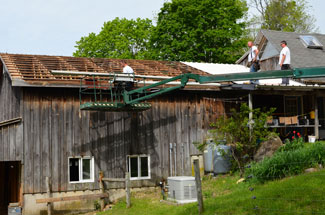
MULTIPOLYGON (((238 179, 238 176, 203 178, 204 214, 325 214, 325 170, 264 184, 236 184, 238 179), (256 206, 258 210, 253 209, 256 206)), ((196 203, 174 206, 161 203, 160 199, 159 189, 134 193, 131 208, 126 209, 123 199, 112 210, 98 214, 198 214, 196 203)))

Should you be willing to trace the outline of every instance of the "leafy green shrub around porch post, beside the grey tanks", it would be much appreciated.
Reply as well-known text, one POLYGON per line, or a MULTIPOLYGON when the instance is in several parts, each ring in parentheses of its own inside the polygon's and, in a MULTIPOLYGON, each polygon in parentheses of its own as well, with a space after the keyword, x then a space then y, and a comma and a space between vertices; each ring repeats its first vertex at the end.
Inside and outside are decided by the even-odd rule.
POLYGON ((241 176, 244 174, 244 165, 250 161, 258 149, 258 142, 264 141, 273 131, 266 125, 267 118, 275 111, 261 111, 256 108, 250 110, 247 104, 240 106, 240 111, 231 110, 230 117, 220 117, 211 126, 211 132, 215 134, 215 141, 226 139, 231 145, 231 153, 240 170, 241 176), (249 113, 253 113, 252 121, 249 113))

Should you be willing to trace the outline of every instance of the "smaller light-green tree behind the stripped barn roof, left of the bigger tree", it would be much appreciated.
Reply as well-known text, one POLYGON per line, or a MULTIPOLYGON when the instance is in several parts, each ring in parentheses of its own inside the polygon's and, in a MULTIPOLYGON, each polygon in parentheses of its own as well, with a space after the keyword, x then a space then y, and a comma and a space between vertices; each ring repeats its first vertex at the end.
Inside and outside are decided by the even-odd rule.
POLYGON ((150 19, 127 20, 115 18, 105 22, 99 34, 90 33, 77 41, 75 57, 122 59, 150 58, 150 19))

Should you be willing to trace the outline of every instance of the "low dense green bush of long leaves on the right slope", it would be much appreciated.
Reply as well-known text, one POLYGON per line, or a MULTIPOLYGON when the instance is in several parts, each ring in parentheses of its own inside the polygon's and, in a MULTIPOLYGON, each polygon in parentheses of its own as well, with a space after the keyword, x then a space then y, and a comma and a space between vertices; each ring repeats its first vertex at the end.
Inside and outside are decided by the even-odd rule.
POLYGON ((271 158, 266 158, 259 163, 252 163, 246 171, 246 177, 252 177, 254 181, 265 182, 297 175, 307 168, 325 163, 324 142, 304 144, 295 150, 290 147, 278 151, 271 158))

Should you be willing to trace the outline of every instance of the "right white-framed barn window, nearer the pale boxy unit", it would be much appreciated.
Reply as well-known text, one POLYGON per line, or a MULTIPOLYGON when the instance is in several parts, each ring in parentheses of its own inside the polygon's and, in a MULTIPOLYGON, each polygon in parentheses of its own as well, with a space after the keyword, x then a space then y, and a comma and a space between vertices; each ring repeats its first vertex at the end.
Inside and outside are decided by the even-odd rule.
POLYGON ((150 157, 148 155, 129 155, 128 171, 131 180, 150 179, 150 157))

